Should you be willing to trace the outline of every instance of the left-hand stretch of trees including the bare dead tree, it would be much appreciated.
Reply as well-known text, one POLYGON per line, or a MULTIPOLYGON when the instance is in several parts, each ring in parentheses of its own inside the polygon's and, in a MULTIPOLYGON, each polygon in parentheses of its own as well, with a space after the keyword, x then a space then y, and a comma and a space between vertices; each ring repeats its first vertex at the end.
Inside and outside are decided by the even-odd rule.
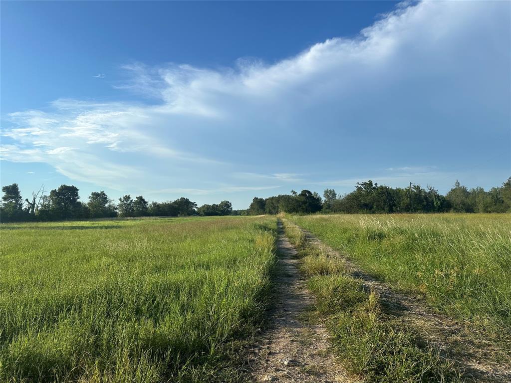
POLYGON ((174 201, 149 203, 143 196, 133 199, 130 195, 125 195, 115 204, 103 190, 92 192, 87 202, 81 202, 79 189, 74 185, 60 185, 49 194, 44 194, 44 188, 41 187, 37 193, 32 193, 31 200, 25 201, 16 183, 3 186, 2 192, 2 222, 148 216, 228 216, 240 213, 233 210, 229 201, 198 207, 197 203, 184 197, 174 201))

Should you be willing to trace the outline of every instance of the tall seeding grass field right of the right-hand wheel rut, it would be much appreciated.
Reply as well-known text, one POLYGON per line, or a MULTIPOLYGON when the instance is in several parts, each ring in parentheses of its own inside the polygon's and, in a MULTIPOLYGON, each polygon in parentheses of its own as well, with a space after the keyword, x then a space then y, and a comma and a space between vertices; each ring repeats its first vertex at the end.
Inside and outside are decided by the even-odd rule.
POLYGON ((290 217, 450 316, 511 327, 511 214, 290 217))

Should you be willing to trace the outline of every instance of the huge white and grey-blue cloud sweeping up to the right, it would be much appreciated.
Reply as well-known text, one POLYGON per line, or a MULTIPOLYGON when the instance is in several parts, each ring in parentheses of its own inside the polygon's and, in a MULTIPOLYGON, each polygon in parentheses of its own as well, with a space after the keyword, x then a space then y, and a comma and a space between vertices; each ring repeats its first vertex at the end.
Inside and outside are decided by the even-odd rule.
POLYGON ((12 113, 2 158, 155 194, 352 181, 423 163, 435 174, 460 169, 480 160, 478 148, 509 150, 509 11, 508 2, 406 5, 356 38, 271 65, 132 63, 120 87, 150 104, 56 100, 12 113))

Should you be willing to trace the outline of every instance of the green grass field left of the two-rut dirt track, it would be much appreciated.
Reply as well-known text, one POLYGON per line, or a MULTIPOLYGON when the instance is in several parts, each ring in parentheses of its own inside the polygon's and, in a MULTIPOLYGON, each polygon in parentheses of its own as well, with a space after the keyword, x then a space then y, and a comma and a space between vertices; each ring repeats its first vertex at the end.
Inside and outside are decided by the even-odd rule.
POLYGON ((237 381, 269 218, 0 227, 0 381, 237 381))

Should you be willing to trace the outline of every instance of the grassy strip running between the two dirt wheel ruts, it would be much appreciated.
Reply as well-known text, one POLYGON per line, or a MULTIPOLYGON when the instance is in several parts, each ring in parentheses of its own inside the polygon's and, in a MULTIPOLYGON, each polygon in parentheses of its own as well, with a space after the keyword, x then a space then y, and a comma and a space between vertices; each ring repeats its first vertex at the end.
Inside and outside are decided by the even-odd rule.
POLYGON ((453 361, 439 350, 419 346, 416 331, 385 314, 379 297, 364 291, 342 258, 308 246, 303 233, 285 224, 299 250, 301 272, 316 297, 316 310, 326 324, 337 355, 355 380, 365 382, 458 382, 453 361))

